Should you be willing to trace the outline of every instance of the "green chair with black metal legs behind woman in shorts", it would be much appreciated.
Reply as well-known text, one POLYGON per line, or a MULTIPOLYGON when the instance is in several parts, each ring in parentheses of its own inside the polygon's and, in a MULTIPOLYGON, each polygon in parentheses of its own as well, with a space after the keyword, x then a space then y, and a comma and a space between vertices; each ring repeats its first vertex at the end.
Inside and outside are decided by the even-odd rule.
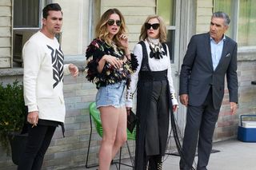
MULTIPOLYGON (((96 109, 96 103, 95 102, 90 103, 89 111, 90 111, 90 137, 89 137, 89 144, 88 144, 88 150, 87 150, 87 156, 86 156, 86 168, 92 168, 92 167, 97 167, 98 166, 98 164, 97 165, 88 165, 88 158, 89 158, 89 153, 90 153, 90 140, 91 140, 91 135, 92 135, 92 130, 93 130, 91 117, 94 121, 94 126, 96 128, 96 131, 97 131, 98 135, 102 137, 102 134, 103 134, 102 121, 101 121, 99 110, 96 109)), ((132 132, 132 133, 128 129, 126 131, 127 131, 127 140, 135 140, 136 127, 134 128, 134 132, 132 132)), ((129 152, 130 161, 131 161, 132 165, 121 163, 122 148, 120 148, 119 162, 118 163, 113 162, 114 164, 119 164, 119 169, 120 169, 121 164, 134 168, 134 160, 132 159, 129 144, 128 144, 127 141, 126 141, 126 145, 127 145, 127 149, 128 149, 128 152, 129 152)))

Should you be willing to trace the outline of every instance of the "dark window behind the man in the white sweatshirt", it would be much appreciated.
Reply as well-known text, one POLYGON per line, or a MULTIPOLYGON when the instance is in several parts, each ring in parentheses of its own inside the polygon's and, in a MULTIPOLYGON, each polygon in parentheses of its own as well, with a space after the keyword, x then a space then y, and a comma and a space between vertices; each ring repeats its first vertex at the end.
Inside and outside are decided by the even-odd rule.
POLYGON ((47 0, 14 0, 13 66, 22 65, 22 47, 41 27, 42 7, 47 0))

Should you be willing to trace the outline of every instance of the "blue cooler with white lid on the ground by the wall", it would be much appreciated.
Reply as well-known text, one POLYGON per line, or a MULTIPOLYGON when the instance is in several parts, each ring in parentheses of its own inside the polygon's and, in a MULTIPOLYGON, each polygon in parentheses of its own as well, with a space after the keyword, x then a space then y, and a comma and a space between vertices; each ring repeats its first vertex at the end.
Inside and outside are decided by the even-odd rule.
POLYGON ((256 121, 242 121, 243 117, 255 117, 256 115, 241 115, 238 126, 238 140, 243 142, 256 142, 256 121))

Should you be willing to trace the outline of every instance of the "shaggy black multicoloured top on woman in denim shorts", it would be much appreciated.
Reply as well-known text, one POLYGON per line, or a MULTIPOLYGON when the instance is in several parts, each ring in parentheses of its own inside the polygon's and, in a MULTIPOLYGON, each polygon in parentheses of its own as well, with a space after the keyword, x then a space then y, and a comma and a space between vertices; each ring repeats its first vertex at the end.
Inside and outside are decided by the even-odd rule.
POLYGON ((122 65, 122 68, 115 69, 114 66, 106 62, 102 69, 102 73, 98 73, 98 61, 100 61, 104 55, 118 57, 120 60, 125 57, 124 51, 118 49, 116 45, 108 45, 99 38, 95 38, 86 49, 87 80, 95 83, 97 89, 123 80, 126 80, 126 85, 129 86, 130 74, 134 73, 138 67, 138 61, 134 54, 131 53, 131 60, 126 61, 126 63, 122 65))

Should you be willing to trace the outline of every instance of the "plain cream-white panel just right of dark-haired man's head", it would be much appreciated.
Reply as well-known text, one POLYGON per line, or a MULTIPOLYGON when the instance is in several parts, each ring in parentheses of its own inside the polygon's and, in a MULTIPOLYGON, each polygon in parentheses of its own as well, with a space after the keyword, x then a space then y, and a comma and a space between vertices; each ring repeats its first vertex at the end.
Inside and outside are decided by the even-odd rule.
POLYGON ((54 0, 62 7, 62 50, 65 55, 84 54, 90 42, 89 0, 54 0))

